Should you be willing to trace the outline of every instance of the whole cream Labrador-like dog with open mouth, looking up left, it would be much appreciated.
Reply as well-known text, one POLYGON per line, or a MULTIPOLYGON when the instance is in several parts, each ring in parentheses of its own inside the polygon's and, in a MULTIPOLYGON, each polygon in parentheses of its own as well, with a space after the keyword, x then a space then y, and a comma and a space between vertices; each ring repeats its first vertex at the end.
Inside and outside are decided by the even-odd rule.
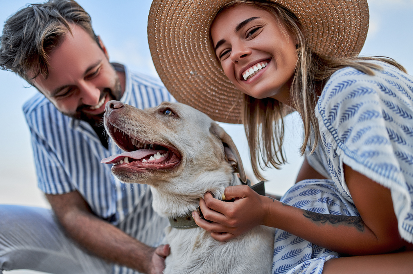
POLYGON ((204 193, 222 199, 225 187, 246 181, 237 148, 218 124, 181 103, 140 110, 109 101, 104 126, 126 152, 102 162, 113 164, 122 182, 150 185, 154 211, 171 222, 165 274, 271 273, 273 228, 257 226, 221 243, 191 217, 204 193))

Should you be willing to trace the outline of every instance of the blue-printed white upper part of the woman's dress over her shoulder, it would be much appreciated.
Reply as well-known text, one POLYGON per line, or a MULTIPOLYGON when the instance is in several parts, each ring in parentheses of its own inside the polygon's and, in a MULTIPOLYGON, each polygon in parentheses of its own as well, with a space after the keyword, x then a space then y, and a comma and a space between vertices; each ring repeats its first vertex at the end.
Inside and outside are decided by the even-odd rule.
POLYGON ((325 85, 315 109, 321 161, 350 202, 343 163, 389 188, 399 233, 413 242, 413 76, 373 63, 382 67, 373 76, 343 68, 325 85))

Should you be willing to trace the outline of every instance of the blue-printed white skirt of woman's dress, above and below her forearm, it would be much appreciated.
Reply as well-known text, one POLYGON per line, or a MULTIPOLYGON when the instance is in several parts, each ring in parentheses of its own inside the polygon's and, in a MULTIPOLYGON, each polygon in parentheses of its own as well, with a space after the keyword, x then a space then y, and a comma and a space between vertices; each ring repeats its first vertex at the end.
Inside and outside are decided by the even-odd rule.
MULTIPOLYGON (((281 198, 290 206, 321 214, 359 216, 332 180, 303 180, 281 198)), ((321 274, 324 262, 339 254, 284 230, 275 230, 272 274, 321 274)))

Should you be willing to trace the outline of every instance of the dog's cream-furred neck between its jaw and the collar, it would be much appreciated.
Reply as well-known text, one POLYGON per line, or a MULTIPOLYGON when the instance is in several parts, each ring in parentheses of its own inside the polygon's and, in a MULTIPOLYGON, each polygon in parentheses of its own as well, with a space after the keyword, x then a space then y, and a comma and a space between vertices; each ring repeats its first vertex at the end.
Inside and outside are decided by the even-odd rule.
POLYGON ((159 215, 166 218, 184 217, 192 211, 196 211, 199 206, 199 199, 204 197, 206 192, 211 194, 216 199, 222 199, 225 187, 230 185, 239 185, 240 179, 237 174, 230 174, 229 176, 205 176, 204 178, 197 178, 196 180, 205 180, 208 178, 208 182, 195 182, 194 184, 188 184, 188 188, 185 193, 177 193, 174 188, 167 187, 152 187, 153 202, 152 206, 154 211, 159 215), (207 189, 192 190, 191 185, 209 185, 207 189))

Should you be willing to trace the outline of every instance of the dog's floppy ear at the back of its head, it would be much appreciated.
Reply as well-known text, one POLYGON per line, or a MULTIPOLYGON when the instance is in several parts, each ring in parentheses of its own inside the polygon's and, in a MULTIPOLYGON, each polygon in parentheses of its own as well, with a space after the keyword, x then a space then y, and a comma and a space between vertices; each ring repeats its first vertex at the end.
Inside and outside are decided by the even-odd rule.
POLYGON ((218 139, 221 140, 224 146, 225 158, 227 162, 235 168, 235 171, 240 174, 240 179, 242 182, 246 182, 244 167, 242 166, 242 161, 240 153, 237 150, 231 137, 226 133, 221 126, 218 126, 215 122, 211 123, 209 131, 214 134, 218 139))

